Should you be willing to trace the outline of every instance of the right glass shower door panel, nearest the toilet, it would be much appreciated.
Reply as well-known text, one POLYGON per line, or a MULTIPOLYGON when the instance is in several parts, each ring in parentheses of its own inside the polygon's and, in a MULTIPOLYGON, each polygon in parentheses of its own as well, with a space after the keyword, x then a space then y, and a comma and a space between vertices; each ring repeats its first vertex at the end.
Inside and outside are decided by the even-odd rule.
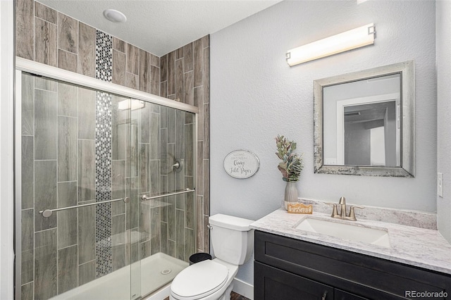
POLYGON ((145 295, 171 282, 195 252, 195 193, 186 192, 195 183, 195 115, 145 103, 132 111, 132 120, 138 124, 138 230, 145 295))

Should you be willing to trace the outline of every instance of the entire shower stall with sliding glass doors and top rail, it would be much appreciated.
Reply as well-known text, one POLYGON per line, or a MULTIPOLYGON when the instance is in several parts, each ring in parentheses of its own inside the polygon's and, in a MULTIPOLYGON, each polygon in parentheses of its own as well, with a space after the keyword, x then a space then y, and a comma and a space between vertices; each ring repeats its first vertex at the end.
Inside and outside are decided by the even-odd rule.
POLYGON ((16 299, 140 299, 196 252, 197 108, 16 71, 16 299))

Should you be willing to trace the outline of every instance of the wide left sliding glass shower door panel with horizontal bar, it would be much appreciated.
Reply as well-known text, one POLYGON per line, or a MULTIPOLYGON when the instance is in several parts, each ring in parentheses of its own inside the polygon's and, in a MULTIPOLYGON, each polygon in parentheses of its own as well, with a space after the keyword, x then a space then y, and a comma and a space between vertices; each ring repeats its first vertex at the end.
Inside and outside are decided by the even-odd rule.
POLYGON ((118 108, 130 100, 27 73, 21 84, 21 297, 130 298, 130 109, 118 108))

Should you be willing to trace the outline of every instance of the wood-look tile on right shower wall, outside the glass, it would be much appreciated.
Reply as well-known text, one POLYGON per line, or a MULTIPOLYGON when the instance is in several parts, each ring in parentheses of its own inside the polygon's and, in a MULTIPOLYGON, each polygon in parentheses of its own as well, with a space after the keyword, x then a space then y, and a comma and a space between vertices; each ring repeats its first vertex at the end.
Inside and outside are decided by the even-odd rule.
POLYGON ((197 39, 160 58, 161 96, 199 108, 197 120, 197 250, 209 252, 210 40, 197 39))

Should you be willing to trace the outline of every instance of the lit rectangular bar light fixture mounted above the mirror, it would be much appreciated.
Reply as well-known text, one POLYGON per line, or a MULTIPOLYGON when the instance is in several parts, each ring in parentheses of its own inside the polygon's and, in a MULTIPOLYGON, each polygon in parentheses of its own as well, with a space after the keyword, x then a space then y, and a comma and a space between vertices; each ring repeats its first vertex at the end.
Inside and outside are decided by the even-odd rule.
POLYGON ((319 41, 291 49, 287 52, 285 59, 288 65, 297 65, 374 44, 375 38, 376 26, 370 23, 338 35, 333 35, 332 37, 326 37, 326 39, 320 39, 319 41))

